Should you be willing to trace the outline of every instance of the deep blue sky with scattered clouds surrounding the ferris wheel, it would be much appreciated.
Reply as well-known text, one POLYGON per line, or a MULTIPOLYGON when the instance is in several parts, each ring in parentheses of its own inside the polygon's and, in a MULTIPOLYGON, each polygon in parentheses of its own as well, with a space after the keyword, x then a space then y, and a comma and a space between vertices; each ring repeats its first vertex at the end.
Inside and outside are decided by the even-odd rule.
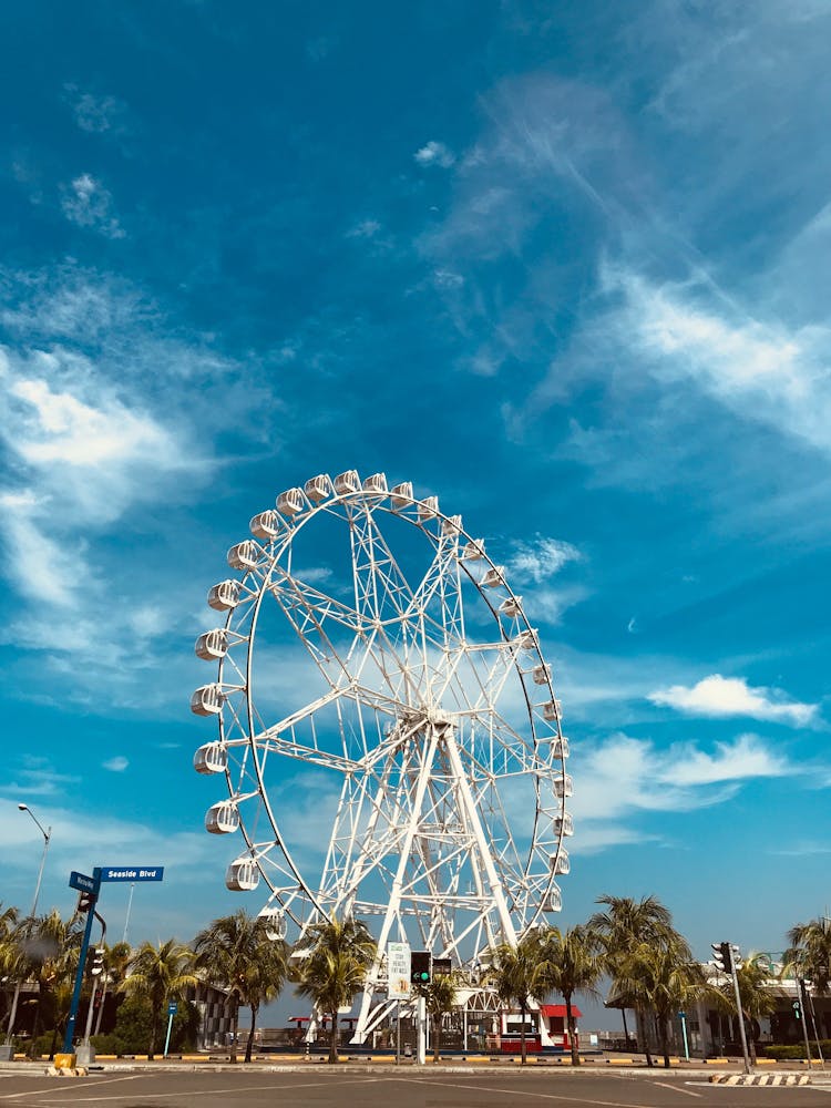
POLYGON ((24 800, 64 911, 95 864, 165 865, 133 940, 260 906, 202 829, 193 642, 250 516, 355 466, 462 512, 541 629, 564 923, 654 893, 704 956, 824 910, 830 35, 824 0, 0 12, 4 902, 24 800))

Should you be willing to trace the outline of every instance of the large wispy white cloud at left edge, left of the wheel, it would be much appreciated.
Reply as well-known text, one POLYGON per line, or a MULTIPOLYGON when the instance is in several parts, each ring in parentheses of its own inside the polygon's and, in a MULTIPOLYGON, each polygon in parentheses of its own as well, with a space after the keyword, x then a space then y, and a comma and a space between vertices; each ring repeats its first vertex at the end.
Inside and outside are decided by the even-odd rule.
MULTIPOLYGON (((250 381, 199 337, 168 337, 147 298, 114 278, 72 266, 0 271, 0 293, 9 338, 0 348, 0 542, 7 581, 25 602, 0 640, 22 652, 16 666, 27 650, 48 655, 58 699, 94 710, 106 674, 111 702, 164 700, 165 683, 142 691, 141 675, 157 664, 163 636, 196 630, 195 596, 183 604, 171 581, 148 602, 142 571, 125 576, 109 538, 122 521, 132 526, 136 513, 172 507, 209 480, 225 418, 256 402, 250 381)), ((165 668, 168 680, 186 688, 187 665, 185 650, 165 668)), ((20 671, 21 695, 29 685, 20 671)))

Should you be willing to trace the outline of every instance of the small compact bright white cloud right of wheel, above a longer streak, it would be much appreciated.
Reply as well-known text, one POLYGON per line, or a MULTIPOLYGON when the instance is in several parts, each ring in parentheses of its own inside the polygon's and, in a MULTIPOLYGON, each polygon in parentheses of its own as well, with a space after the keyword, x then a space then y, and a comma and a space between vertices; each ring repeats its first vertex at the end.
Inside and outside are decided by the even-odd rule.
POLYGON ((818 711, 815 704, 788 700, 779 689, 752 688, 741 677, 711 674, 696 685, 673 685, 648 695, 653 704, 667 705, 694 716, 749 716, 804 727, 818 711))

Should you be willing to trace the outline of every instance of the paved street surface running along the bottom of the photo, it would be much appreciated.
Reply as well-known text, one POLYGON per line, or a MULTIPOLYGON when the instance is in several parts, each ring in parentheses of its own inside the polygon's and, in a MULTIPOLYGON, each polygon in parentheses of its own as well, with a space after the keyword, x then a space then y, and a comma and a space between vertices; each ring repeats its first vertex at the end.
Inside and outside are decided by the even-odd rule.
MULTIPOLYGON (((86 1076, 50 1077, 43 1063, 0 1065, 6 1108, 831 1108, 831 1073, 811 1085, 732 1085, 740 1067, 579 1069, 544 1066, 471 1066, 449 1063, 396 1067, 377 1063, 237 1064, 120 1060, 86 1076)), ((766 1080, 806 1080, 807 1069, 766 1067, 766 1080)))

